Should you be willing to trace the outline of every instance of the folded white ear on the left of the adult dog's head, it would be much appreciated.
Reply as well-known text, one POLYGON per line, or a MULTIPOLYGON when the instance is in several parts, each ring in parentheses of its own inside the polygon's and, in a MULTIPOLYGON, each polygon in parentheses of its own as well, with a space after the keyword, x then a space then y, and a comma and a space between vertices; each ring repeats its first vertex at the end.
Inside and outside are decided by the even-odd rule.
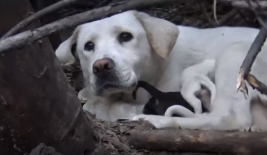
POLYGON ((71 65, 75 63, 76 59, 74 53, 76 50, 76 41, 79 31, 80 26, 77 26, 71 37, 62 42, 56 49, 55 54, 61 64, 71 65))

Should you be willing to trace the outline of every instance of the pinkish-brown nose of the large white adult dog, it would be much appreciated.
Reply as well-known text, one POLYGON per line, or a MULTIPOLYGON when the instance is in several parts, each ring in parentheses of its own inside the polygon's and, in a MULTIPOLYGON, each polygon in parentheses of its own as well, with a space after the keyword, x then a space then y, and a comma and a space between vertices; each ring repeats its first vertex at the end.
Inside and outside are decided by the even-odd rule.
POLYGON ((114 61, 111 58, 98 59, 93 64, 93 73, 98 78, 105 78, 114 65, 114 61))

